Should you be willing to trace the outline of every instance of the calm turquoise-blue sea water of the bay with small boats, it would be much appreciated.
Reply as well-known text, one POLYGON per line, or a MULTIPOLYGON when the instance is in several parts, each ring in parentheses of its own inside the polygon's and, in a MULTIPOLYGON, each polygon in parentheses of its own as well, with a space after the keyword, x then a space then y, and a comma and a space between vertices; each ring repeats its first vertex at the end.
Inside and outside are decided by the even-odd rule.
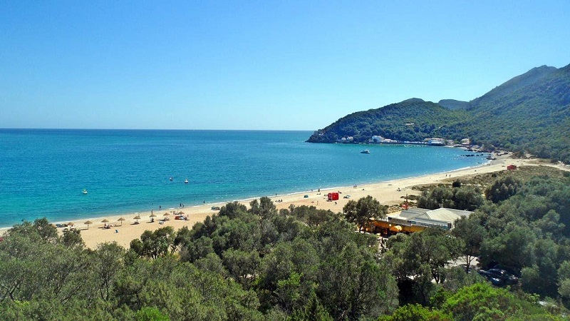
POLYGON ((486 161, 459 148, 305 143, 310 135, 0 129, 0 227, 373 183, 486 161))

